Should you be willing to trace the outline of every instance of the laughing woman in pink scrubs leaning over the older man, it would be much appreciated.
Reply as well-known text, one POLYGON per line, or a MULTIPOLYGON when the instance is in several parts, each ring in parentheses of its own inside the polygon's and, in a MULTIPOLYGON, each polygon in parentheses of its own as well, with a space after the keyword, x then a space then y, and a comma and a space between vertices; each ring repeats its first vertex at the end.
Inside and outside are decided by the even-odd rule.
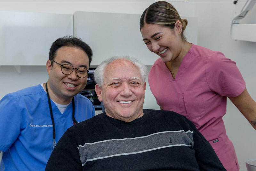
POLYGON ((160 56, 148 74, 156 102, 163 110, 191 120, 212 145, 228 171, 239 166, 222 117, 227 97, 256 129, 256 102, 250 97, 236 63, 221 52, 189 43, 188 24, 169 3, 151 4, 141 15, 140 32, 149 51, 160 56))

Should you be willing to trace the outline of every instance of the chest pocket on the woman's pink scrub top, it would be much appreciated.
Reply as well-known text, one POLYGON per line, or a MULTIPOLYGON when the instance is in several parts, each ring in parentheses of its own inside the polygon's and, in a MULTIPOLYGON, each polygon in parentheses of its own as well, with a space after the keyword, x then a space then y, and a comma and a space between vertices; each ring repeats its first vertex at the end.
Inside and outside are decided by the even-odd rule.
POLYGON ((179 93, 181 114, 189 120, 203 116, 205 112, 201 89, 189 90, 179 93))

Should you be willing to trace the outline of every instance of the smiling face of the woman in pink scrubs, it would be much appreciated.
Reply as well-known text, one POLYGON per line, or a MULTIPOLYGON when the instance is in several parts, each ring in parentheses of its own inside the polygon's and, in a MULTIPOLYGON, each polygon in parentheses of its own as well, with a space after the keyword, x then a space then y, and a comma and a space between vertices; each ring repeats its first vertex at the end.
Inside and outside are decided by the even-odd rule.
MULTIPOLYGON (((179 22, 179 21, 177 21, 179 22)), ((140 32, 148 50, 156 53, 164 62, 175 60, 182 52, 182 37, 179 24, 175 29, 157 24, 145 24, 140 32)), ((184 55, 185 56, 185 55, 184 55)))

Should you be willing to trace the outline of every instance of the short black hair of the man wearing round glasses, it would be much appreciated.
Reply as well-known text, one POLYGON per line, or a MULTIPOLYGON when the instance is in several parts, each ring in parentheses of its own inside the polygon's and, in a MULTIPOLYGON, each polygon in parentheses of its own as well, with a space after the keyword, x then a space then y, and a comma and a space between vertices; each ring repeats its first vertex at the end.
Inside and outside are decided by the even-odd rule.
POLYGON ((90 66, 92 61, 92 49, 87 43, 82 41, 82 39, 71 36, 71 35, 58 38, 55 42, 52 43, 52 46, 49 52, 49 60, 54 60, 54 58, 56 57, 56 51, 63 46, 79 48, 83 50, 88 55, 89 66, 90 66))

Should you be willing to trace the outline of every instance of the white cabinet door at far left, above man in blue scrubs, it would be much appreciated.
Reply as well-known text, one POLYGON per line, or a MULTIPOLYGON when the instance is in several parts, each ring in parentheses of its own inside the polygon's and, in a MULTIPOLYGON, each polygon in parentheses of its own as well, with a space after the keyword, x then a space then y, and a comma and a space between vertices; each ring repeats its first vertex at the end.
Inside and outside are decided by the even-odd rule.
POLYGON ((0 12, 0 65, 45 65, 65 35, 73 35, 73 15, 0 12))

